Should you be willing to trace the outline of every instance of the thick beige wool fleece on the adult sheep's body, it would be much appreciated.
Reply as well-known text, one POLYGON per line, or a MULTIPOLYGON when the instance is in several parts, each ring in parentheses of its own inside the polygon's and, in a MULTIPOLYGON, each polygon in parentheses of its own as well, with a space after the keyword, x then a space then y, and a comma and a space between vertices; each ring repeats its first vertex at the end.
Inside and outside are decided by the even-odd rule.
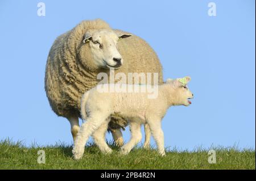
MULTIPOLYGON (((49 104, 58 116, 80 117, 82 93, 96 86, 98 73, 109 74, 108 69, 97 68, 93 64, 89 45, 82 43, 85 33, 93 29, 110 27, 101 19, 83 21, 71 31, 57 37, 49 51, 45 89, 49 104)), ((118 41, 118 50, 124 62, 116 73, 159 73, 159 84, 163 83, 162 65, 146 41, 132 35, 118 41)))

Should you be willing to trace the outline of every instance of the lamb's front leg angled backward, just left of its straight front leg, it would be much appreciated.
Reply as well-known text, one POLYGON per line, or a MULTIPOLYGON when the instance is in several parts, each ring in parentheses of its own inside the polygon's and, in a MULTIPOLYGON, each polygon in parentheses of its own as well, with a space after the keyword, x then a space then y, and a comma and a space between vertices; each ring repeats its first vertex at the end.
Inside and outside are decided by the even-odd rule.
POLYGON ((128 154, 130 153, 131 149, 134 148, 135 145, 138 144, 139 141, 142 139, 141 134, 141 124, 131 122, 130 123, 130 131, 131 131, 131 139, 127 142, 126 145, 121 147, 121 154, 128 154))

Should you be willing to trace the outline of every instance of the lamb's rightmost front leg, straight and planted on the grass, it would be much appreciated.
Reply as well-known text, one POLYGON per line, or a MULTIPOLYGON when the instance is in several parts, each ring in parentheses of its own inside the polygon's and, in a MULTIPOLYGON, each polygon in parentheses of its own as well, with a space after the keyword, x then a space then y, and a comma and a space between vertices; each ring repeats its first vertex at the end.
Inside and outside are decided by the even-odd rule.
POLYGON ((161 121, 159 119, 148 119, 147 123, 150 127, 151 133, 153 134, 156 145, 158 146, 160 155, 166 155, 166 152, 164 151, 164 134, 161 128, 161 121))

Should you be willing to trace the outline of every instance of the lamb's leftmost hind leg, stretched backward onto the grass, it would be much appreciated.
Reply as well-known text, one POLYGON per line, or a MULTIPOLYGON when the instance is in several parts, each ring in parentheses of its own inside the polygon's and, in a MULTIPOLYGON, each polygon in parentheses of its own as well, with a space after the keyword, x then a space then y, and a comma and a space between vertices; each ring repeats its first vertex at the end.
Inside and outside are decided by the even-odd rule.
POLYGON ((75 159, 80 159, 84 154, 84 147, 89 136, 91 136, 98 128, 100 128, 102 124, 108 124, 108 116, 102 115, 102 113, 99 112, 88 117, 87 121, 81 125, 72 150, 75 159))

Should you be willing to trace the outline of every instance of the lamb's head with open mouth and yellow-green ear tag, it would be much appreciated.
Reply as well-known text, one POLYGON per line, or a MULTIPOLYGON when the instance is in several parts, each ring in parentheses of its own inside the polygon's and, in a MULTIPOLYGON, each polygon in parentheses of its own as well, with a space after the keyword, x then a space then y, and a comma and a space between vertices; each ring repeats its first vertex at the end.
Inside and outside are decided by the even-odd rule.
POLYGON ((174 105, 189 106, 193 98, 193 93, 188 89, 187 83, 191 81, 190 77, 167 79, 166 83, 170 85, 172 90, 171 102, 174 105))

